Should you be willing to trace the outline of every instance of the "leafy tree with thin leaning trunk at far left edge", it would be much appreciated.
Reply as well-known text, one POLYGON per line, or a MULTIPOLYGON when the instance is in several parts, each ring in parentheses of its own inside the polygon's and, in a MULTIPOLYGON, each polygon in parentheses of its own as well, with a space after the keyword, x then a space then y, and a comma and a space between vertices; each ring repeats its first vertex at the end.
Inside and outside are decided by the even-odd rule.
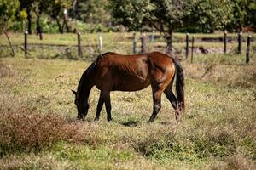
POLYGON ((9 40, 7 31, 9 24, 11 24, 11 22, 15 19, 15 14, 19 7, 20 3, 18 0, 0 0, 0 34, 4 33, 4 35, 7 37, 12 51, 12 56, 15 56, 15 51, 9 40))

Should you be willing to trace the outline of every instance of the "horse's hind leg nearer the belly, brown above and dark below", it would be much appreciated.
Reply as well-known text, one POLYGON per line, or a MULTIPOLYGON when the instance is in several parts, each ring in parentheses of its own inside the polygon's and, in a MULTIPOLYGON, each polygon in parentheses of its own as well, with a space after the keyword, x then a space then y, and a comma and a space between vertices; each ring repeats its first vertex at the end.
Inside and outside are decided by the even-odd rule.
POLYGON ((162 95, 162 90, 160 89, 154 89, 152 88, 153 91, 153 113, 150 116, 150 119, 148 122, 154 122, 155 117, 157 116, 158 112, 160 111, 161 108, 161 95, 162 95))

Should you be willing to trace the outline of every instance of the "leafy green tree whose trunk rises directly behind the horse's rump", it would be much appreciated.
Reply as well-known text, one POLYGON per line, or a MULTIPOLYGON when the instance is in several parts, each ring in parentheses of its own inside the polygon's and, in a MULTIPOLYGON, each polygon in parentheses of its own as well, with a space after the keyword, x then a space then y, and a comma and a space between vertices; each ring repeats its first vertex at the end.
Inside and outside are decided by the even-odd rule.
POLYGON ((108 8, 113 18, 130 30, 148 25, 163 33, 167 42, 166 54, 171 54, 172 33, 183 26, 190 10, 187 4, 185 0, 110 0, 108 8))

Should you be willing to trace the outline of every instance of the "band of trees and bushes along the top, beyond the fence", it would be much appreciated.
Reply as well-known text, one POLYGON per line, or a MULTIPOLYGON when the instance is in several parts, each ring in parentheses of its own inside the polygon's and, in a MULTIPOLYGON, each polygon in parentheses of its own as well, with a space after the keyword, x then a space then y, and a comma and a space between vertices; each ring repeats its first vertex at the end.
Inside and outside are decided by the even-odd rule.
POLYGON ((129 31, 142 31, 143 26, 148 26, 150 30, 153 27, 166 33, 255 28, 256 3, 247 0, 1 0, 0 5, 2 18, 15 19, 7 26, 10 30, 27 30, 30 34, 32 31, 119 31, 120 25, 129 31), (91 30, 91 27, 98 29, 91 30))

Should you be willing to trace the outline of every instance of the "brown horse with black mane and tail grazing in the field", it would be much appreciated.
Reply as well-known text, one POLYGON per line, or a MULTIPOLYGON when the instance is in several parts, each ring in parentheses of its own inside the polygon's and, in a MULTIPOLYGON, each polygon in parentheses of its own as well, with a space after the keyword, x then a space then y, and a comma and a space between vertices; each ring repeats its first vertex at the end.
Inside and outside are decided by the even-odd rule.
POLYGON ((99 55, 84 71, 77 92, 73 91, 78 118, 84 120, 87 115, 90 106, 88 98, 93 86, 101 90, 95 120, 100 118, 105 103, 108 121, 111 121, 111 91, 137 91, 149 85, 152 88, 154 108, 148 122, 154 122, 155 116, 160 111, 163 93, 171 102, 175 109, 176 120, 179 121, 180 113, 184 109, 184 76, 183 68, 177 59, 159 52, 136 55, 108 52, 99 55), (172 92, 175 74, 177 98, 172 92))

